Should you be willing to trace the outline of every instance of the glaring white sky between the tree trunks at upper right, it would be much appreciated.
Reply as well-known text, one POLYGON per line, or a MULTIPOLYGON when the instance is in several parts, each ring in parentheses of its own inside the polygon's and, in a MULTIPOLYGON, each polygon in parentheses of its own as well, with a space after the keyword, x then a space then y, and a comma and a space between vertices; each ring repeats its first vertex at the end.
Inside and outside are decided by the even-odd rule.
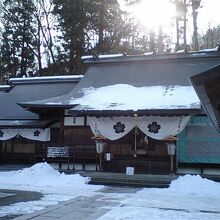
MULTIPOLYGON (((119 0, 122 8, 124 0, 119 0)), ((220 0, 203 0, 202 8, 198 14, 198 33, 205 33, 207 28, 220 24, 219 16, 220 0)), ((163 25, 170 36, 175 38, 175 7, 169 0, 142 0, 140 4, 126 8, 136 17, 146 28, 158 29, 163 25), (170 25, 173 23, 172 25, 170 25)), ((188 17, 187 38, 191 39, 193 34, 192 19, 188 17)), ((173 39, 175 41, 175 39, 173 39)))

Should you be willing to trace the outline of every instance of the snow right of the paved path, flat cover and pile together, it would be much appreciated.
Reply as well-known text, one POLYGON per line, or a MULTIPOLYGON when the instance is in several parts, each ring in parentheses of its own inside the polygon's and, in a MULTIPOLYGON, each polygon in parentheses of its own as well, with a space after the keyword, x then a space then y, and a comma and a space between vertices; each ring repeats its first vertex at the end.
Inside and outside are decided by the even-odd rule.
POLYGON ((143 189, 124 198, 119 207, 99 218, 122 219, 220 219, 220 183, 185 175, 174 180, 168 189, 143 189))

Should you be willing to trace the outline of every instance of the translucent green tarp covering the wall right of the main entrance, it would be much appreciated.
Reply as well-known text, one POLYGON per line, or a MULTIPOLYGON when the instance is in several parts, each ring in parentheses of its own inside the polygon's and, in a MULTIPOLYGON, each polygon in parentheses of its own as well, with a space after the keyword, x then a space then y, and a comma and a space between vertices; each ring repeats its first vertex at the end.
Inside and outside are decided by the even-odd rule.
POLYGON ((208 117, 192 117, 178 138, 179 163, 220 163, 220 134, 208 117))

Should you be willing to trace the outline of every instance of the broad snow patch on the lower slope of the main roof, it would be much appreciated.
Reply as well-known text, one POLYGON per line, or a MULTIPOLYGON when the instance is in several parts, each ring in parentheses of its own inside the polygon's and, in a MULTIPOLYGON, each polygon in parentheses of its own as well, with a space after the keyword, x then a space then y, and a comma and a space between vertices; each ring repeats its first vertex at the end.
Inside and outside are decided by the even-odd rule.
POLYGON ((116 84, 85 89, 84 96, 72 99, 94 110, 199 109, 200 101, 192 86, 134 87, 116 84))

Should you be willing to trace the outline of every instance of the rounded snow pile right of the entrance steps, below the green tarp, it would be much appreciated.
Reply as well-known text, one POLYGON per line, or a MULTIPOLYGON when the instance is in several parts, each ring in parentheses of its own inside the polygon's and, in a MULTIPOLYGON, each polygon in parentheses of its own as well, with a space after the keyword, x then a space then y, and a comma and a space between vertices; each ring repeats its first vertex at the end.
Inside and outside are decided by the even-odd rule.
POLYGON ((220 183, 202 178, 199 175, 185 175, 173 180, 170 191, 178 191, 184 194, 197 194, 206 196, 220 195, 220 183))

